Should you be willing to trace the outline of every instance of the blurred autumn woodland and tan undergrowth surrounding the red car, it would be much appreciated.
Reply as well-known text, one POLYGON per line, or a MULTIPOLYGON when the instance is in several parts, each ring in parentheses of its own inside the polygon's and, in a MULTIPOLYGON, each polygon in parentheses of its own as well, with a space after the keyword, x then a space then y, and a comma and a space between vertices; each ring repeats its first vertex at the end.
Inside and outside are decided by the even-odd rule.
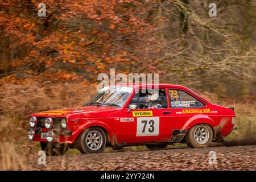
POLYGON ((39 1, 0 0, 0 169, 26 169, 24 156, 39 150, 27 138, 31 113, 81 106, 110 68, 159 73, 235 106, 227 139, 255 138, 255 0, 42 2, 40 18, 39 1))

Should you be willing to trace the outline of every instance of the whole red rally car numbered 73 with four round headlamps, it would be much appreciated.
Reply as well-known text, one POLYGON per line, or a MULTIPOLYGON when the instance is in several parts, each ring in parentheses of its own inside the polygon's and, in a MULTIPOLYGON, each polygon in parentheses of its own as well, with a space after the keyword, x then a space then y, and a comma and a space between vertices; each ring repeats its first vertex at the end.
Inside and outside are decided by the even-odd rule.
POLYGON ((39 141, 47 155, 143 144, 158 150, 176 142, 201 148, 236 130, 233 107, 170 84, 108 86, 82 107, 35 113, 29 122, 28 138, 39 141))

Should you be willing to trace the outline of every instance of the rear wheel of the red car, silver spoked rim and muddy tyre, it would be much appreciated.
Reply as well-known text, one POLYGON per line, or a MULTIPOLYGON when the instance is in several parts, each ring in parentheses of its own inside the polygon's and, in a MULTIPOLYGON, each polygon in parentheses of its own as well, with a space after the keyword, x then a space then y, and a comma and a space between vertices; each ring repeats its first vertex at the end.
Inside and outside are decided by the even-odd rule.
POLYGON ((209 125, 199 124, 189 130, 185 140, 189 147, 205 148, 212 142, 213 131, 209 125))

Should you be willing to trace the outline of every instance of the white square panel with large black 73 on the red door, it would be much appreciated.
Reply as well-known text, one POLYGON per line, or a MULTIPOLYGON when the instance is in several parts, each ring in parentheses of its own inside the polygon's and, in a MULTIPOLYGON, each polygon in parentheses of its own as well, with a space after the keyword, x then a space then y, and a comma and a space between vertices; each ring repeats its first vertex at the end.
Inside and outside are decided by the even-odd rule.
POLYGON ((137 137, 158 136, 159 135, 159 117, 141 117, 137 118, 137 137))

